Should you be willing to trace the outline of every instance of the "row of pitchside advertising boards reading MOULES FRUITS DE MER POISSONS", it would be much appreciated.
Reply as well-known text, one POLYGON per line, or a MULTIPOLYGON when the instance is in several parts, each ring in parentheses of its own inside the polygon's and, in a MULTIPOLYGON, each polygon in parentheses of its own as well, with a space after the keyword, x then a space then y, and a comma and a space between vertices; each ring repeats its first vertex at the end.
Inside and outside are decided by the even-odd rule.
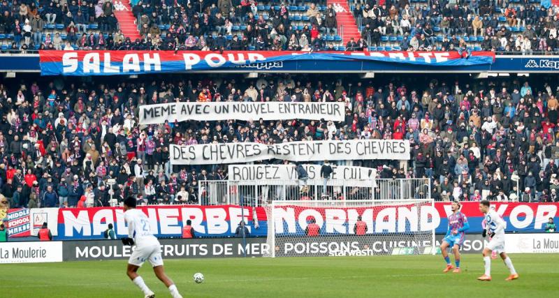
MULTIPOLYGON (((440 253, 444 235, 437 235, 435 246, 419 252, 440 253)), ((559 253, 559 234, 506 234, 507 253, 559 253)), ((161 239, 161 252, 166 259, 184 258, 240 258, 269 255, 270 246, 265 238, 161 239)), ((479 234, 468 235, 461 253, 481 253, 484 239, 479 234)), ((296 237, 277 248, 277 256, 349 256, 407 255, 416 250, 416 243, 408 240, 391 241, 379 237, 372 244, 363 245, 358 237, 296 237), (347 238, 347 239, 346 239, 347 238)), ((3 242, 0 243, 0 264, 66 262, 83 260, 126 260, 132 248, 122 246, 119 240, 3 242)))

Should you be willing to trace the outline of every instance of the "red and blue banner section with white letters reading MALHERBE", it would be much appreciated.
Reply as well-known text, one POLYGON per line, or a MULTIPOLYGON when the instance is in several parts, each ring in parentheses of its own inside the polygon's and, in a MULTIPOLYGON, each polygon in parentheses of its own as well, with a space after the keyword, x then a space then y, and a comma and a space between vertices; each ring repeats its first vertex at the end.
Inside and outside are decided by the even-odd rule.
MULTIPOLYGON (((268 232, 266 212, 252 207, 222 205, 170 205, 138 207, 150 220, 151 232, 157 237, 181 237, 188 220, 196 237, 234 237, 244 218, 252 236, 263 237, 268 232)), ((115 227, 117 237, 128 234, 122 207, 64 208, 58 213, 58 237, 64 239, 102 239, 108 224, 115 227)))

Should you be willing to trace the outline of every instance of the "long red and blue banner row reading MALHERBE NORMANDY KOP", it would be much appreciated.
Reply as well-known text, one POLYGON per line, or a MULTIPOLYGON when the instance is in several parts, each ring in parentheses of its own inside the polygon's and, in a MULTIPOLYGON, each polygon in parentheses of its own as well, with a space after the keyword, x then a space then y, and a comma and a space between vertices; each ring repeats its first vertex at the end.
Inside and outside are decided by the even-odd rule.
MULTIPOLYGON (((550 217, 559 221, 559 203, 493 202, 493 207, 507 222, 507 232, 545 232, 545 223, 550 217)), ((140 209, 150 218, 150 227, 157 237, 181 237, 187 220, 191 220, 199 237, 234 237, 242 218, 250 236, 266 237, 268 234, 267 214, 263 207, 170 205, 140 209)), ((467 232, 480 233, 484 217, 479 211, 479 203, 463 202, 461 211, 470 221, 467 232)), ((117 237, 128 233, 124 211, 120 207, 31 209, 31 212, 29 209, 10 209, 3 221, 8 225, 10 237, 29 237, 34 234, 31 233, 34 217, 41 217, 36 220, 39 223, 45 220, 46 214, 56 212, 58 218, 48 216, 46 219, 52 234, 58 234, 55 239, 103 239, 109 223, 115 226, 117 237)), ((302 235, 312 217, 321 226, 321 234, 353 234, 353 225, 359 215, 370 225, 370 234, 430 231, 433 226, 437 234, 444 234, 450 214, 450 202, 437 202, 434 208, 430 204, 328 208, 291 205, 276 208, 275 228, 279 235, 302 235)))

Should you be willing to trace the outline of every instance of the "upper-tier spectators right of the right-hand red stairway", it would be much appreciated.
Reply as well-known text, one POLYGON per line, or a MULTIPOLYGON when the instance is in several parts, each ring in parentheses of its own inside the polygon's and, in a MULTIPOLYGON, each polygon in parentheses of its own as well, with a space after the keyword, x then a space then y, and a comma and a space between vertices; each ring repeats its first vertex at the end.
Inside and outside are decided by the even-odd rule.
POLYGON ((398 50, 559 51, 559 8, 549 0, 356 3, 354 16, 363 40, 347 47, 378 47, 398 36, 392 39, 398 50))

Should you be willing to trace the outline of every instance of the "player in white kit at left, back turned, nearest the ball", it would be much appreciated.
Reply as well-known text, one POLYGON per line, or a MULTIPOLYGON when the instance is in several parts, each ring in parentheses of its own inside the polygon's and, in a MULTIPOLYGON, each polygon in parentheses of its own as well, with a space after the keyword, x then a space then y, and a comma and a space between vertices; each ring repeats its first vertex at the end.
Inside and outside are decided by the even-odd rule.
POLYGON ((155 297, 154 292, 145 285, 142 276, 136 273, 145 261, 149 261, 155 276, 169 289, 170 295, 173 298, 182 298, 175 283, 165 274, 161 244, 152 234, 147 216, 143 211, 136 209, 136 198, 129 197, 124 200, 124 221, 128 225, 128 237, 122 238, 122 243, 129 246, 136 244, 136 249, 130 255, 126 268, 126 274, 131 281, 144 292, 145 298, 155 297))

